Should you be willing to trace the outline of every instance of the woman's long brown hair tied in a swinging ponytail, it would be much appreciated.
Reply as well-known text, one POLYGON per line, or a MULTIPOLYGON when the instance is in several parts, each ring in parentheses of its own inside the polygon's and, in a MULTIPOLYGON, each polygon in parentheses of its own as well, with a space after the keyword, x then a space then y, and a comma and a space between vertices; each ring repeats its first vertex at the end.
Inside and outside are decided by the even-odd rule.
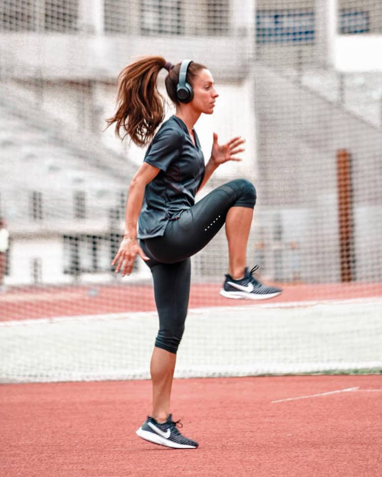
MULTIPOLYGON (((168 66, 162 56, 146 56, 122 69, 118 75, 117 112, 106 119, 106 129, 116 123, 116 136, 121 140, 130 136, 138 146, 152 139, 165 117, 164 98, 158 91, 157 78, 159 71, 168 66), (123 136, 121 128, 125 131, 123 136)), ((181 63, 171 66, 165 80, 167 94, 175 104, 179 104, 176 87, 180 66, 181 63)), ((190 63, 186 81, 192 85, 197 73, 205 68, 199 63, 190 63)))

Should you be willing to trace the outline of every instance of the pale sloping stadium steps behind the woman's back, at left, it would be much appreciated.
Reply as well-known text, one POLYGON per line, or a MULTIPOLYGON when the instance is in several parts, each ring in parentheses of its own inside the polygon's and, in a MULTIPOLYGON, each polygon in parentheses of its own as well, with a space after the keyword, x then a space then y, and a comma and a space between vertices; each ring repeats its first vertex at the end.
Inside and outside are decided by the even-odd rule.
POLYGON ((136 168, 99 141, 87 137, 79 144, 57 121, 52 125, 40 111, 4 95, 0 95, 0 150, 1 213, 16 234, 65 229, 64 223, 77 227, 72 220, 76 191, 86 194, 89 221, 105 222, 106 227, 110 209, 121 206, 121 194, 136 168), (44 219, 38 223, 30 220, 33 191, 43 196, 44 219))

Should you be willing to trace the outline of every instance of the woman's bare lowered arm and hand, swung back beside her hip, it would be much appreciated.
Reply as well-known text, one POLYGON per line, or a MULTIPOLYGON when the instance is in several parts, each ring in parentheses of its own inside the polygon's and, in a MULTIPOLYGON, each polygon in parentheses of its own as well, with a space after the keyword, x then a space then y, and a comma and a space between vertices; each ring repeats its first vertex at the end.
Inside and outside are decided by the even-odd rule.
POLYGON ((143 260, 149 259, 145 256, 143 250, 138 245, 137 222, 143 204, 144 189, 146 185, 155 178, 159 171, 160 169, 157 167, 143 162, 142 166, 138 169, 137 173, 131 180, 126 203, 123 239, 112 262, 112 265, 117 263, 116 273, 119 272, 124 262, 122 276, 126 273, 128 275, 131 273, 137 255, 143 260))

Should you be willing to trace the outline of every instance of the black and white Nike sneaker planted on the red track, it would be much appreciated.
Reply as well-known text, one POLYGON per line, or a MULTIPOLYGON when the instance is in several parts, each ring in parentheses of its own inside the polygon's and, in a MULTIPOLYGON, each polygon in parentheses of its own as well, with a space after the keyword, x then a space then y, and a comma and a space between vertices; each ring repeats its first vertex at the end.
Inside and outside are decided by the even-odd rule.
MULTIPOLYGON (((142 426, 138 429, 137 434, 146 441, 160 444, 161 446, 172 447, 173 449, 196 449, 198 443, 188 439, 182 435, 176 425, 179 421, 172 420, 172 414, 163 424, 159 424, 155 419, 148 416, 142 426)), ((180 424, 182 427, 182 424, 180 424)))

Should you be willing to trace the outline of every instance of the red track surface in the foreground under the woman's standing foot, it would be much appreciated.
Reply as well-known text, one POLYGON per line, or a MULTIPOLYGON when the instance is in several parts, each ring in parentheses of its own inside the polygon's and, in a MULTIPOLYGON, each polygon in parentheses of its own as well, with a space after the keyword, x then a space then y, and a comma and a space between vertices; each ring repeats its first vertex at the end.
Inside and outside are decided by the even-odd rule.
POLYGON ((0 476, 382 475, 381 376, 175 380, 174 418, 200 445, 186 451, 136 436, 150 392, 148 381, 0 386, 0 476))

